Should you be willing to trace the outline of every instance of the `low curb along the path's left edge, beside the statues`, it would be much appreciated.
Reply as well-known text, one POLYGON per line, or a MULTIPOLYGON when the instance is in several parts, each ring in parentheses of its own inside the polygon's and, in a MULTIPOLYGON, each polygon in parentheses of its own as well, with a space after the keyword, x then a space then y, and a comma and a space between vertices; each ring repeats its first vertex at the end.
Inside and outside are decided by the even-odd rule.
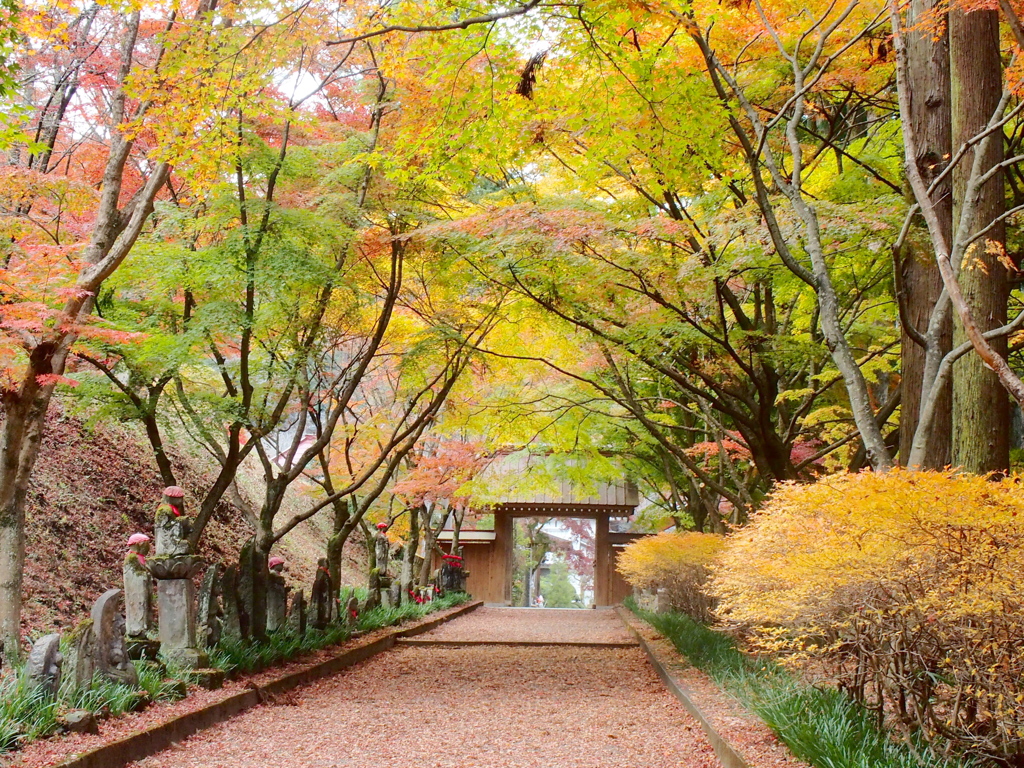
POLYGON ((256 707, 265 701, 267 697, 281 695, 321 678, 342 672, 359 662, 388 650, 400 638, 429 632, 445 622, 450 622, 453 618, 465 615, 479 608, 481 605, 483 605, 483 601, 476 600, 457 606, 443 615, 427 618, 412 627, 396 627, 392 632, 383 637, 357 645, 354 648, 349 648, 343 653, 339 653, 327 660, 282 675, 262 686, 253 684, 252 688, 241 693, 236 693, 199 710, 194 710, 193 712, 155 725, 152 728, 137 731, 117 741, 112 741, 95 750, 82 753, 71 760, 60 763, 57 768, 123 768, 128 763, 155 755, 194 733, 222 723, 241 712, 256 707))

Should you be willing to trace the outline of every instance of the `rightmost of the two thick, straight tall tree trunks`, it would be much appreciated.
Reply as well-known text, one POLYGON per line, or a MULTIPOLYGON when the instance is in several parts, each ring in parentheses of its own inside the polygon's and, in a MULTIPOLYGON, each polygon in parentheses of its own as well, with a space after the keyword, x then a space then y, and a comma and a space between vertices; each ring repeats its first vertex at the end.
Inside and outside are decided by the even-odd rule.
MULTIPOLYGON (((949 11, 949 60, 952 82, 953 146, 984 129, 995 112, 1002 91, 999 58, 999 17, 995 10, 969 13, 949 11)), ((988 142, 983 170, 1002 160, 1002 141, 988 142)), ((973 153, 954 169, 953 199, 957 207, 970 177, 973 153)), ((984 228, 1005 210, 1002 175, 984 186, 971 232, 984 228)), ((1006 244, 1001 225, 968 252, 959 273, 964 296, 982 331, 1007 322, 1010 283, 998 255, 990 253, 1006 244), (989 248, 994 244, 995 248, 989 248)), ((955 266, 955 265, 954 265, 955 266)), ((967 340, 957 321, 953 343, 967 340)), ((1007 355, 1007 340, 993 339, 992 347, 1007 355)), ((1010 398, 998 378, 977 354, 967 354, 953 366, 952 463, 969 472, 1006 471, 1010 467, 1010 398)))

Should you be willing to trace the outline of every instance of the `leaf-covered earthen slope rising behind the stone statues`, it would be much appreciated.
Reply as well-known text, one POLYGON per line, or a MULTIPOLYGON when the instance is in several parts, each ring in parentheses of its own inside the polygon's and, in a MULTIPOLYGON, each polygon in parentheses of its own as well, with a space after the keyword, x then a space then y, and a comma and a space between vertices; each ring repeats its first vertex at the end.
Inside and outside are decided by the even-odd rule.
MULTIPOLYGON (((174 447, 169 453, 187 504, 209 486, 213 467, 174 447)), ((252 488, 251 481, 246 484, 252 488)), ((132 429, 117 424, 87 427, 53 409, 28 499, 27 636, 73 627, 104 590, 121 585, 125 542, 137 530, 152 536, 162 488, 150 446, 132 429)), ((314 518, 280 548, 291 581, 307 591, 316 558, 323 556, 327 528, 326 519, 314 518)), ((243 514, 221 503, 204 532, 200 554, 208 561, 229 562, 251 534, 243 514)), ((351 555, 358 559, 357 547, 351 555)), ((358 578, 354 570, 350 575, 358 578)))

